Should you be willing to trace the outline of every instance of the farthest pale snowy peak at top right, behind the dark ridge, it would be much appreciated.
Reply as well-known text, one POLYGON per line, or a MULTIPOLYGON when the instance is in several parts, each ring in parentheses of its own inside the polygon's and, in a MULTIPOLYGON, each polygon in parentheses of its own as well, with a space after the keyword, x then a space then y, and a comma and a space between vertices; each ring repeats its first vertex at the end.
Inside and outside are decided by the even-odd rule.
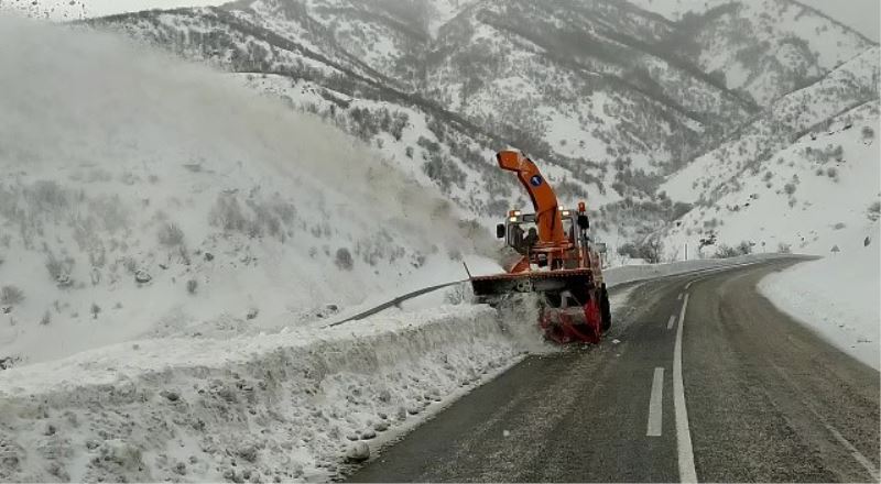
POLYGON ((791 0, 633 3, 677 20, 667 38, 689 61, 768 106, 873 44, 823 13, 791 0))

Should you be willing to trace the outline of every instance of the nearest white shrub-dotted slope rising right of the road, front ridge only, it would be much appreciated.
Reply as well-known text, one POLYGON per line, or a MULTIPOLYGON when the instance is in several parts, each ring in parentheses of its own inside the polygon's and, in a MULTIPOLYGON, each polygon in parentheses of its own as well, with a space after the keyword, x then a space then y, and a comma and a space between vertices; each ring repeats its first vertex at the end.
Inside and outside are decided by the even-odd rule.
MULTIPOLYGON (((875 99, 744 167, 725 184, 725 195, 677 221, 668 232, 668 250, 689 244, 694 254, 710 234, 717 243, 704 249, 706 255, 743 241, 754 244, 754 252, 786 246, 835 256, 862 250, 867 237, 874 239, 881 206, 878 125, 875 99)), ((718 177, 722 167, 707 170, 718 177)))

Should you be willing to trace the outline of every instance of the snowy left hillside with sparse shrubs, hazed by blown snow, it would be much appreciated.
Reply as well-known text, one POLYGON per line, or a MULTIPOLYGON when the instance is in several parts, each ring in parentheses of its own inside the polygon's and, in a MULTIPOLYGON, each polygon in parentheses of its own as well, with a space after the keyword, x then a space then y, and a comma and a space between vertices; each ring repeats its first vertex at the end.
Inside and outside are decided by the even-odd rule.
POLYGON ((446 201, 222 73, 19 19, 0 63, 0 358, 267 329, 475 251, 446 201))

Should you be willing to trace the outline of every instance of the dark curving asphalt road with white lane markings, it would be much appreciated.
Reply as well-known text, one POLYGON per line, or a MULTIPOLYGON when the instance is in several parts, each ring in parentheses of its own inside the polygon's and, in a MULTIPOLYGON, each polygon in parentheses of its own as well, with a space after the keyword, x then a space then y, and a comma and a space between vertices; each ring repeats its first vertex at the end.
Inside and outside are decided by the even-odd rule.
POLYGON ((878 482, 879 373, 755 289, 794 263, 641 284, 601 344, 526 359, 349 481, 878 482))

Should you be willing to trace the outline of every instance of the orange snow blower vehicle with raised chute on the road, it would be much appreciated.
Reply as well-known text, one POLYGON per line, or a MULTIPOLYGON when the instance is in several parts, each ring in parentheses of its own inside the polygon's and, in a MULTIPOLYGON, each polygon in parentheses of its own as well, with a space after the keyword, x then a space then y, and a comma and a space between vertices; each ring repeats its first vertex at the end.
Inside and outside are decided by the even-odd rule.
POLYGON ((535 212, 511 210, 497 227, 498 238, 519 258, 503 274, 471 277, 475 296, 498 304, 513 294, 536 294, 539 324, 547 339, 561 344, 598 343, 611 327, 611 311, 599 257, 605 246, 595 246, 588 237, 585 202, 577 210, 561 208, 535 163, 519 151, 499 152, 496 161, 516 174, 535 212))

